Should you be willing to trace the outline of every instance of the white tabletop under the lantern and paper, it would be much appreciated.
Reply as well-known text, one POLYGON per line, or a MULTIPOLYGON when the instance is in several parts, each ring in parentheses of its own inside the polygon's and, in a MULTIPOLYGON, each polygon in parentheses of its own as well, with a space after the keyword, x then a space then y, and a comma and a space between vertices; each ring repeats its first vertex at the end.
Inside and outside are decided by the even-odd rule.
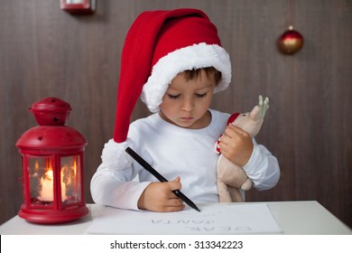
MULTIPOLYGON (((283 230, 290 235, 350 235, 352 230, 317 201, 277 201, 245 202, 233 204, 266 203, 273 218, 283 230)), ((106 207, 88 204, 89 214, 79 220, 59 225, 34 224, 15 216, 0 226, 1 235, 71 235, 86 234, 89 225, 106 207)))

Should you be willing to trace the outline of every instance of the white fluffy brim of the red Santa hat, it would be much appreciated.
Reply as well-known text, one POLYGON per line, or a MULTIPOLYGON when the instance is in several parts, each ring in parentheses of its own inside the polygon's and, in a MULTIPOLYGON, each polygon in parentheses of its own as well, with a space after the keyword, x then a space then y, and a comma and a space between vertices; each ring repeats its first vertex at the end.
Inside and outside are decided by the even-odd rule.
POLYGON ((227 89, 231 81, 231 61, 228 53, 217 44, 199 43, 168 53, 153 66, 144 84, 141 98, 152 112, 158 112, 162 97, 171 80, 184 70, 214 67, 221 72, 221 80, 214 93, 227 89))

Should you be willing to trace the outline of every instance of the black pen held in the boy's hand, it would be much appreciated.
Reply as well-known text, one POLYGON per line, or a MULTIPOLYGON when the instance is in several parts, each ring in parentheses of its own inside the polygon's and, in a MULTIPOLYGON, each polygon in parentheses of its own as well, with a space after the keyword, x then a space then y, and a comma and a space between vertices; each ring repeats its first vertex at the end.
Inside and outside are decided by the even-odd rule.
MULTIPOLYGON (((141 164, 144 169, 152 173, 153 176, 155 176, 160 182, 168 182, 166 178, 164 178, 160 173, 154 170, 151 164, 148 164, 140 155, 135 153, 131 147, 127 147, 125 149, 125 152, 127 152, 128 155, 131 155, 134 160, 137 161, 138 164, 141 164)), ((172 192, 175 193, 182 201, 185 201, 191 208, 200 211, 199 208, 192 201, 190 201, 190 199, 187 198, 186 195, 184 195, 181 191, 175 190, 172 192)))

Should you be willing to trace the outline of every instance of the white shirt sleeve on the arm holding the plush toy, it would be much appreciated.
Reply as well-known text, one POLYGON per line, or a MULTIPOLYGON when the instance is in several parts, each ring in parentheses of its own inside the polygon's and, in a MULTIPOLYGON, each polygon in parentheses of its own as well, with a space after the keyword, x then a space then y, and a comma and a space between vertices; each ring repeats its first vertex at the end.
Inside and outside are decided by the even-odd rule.
POLYGON ((264 145, 253 139, 254 149, 243 169, 256 189, 263 191, 273 188, 280 178, 279 163, 264 145))

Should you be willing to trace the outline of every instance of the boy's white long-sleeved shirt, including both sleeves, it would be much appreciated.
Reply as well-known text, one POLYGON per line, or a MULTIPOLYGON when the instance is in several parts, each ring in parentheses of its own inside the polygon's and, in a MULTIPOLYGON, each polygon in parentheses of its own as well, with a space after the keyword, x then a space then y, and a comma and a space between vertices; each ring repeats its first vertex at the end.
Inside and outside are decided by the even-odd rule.
MULTIPOLYGON (((137 202, 145 187, 157 179, 125 153, 129 145, 167 180, 181 177, 181 191, 190 200, 218 202, 218 154, 214 145, 223 134, 229 117, 226 113, 210 110, 211 122, 202 129, 174 126, 153 114, 134 121, 125 143, 109 140, 102 154, 102 164, 90 183, 93 200, 99 204, 138 210, 137 202), (139 182, 134 181, 135 176, 139 182)), ((276 158, 254 141, 254 150, 243 167, 254 187, 272 188, 279 180, 276 158)))

